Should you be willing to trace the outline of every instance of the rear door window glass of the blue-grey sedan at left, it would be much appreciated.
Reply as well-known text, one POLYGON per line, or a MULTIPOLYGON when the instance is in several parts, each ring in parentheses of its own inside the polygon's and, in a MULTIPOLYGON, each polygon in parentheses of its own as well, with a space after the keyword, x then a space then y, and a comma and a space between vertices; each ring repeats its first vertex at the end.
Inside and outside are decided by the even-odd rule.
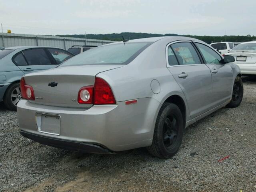
POLYGON ((50 65, 51 61, 46 55, 44 49, 29 49, 23 51, 28 65, 50 65))

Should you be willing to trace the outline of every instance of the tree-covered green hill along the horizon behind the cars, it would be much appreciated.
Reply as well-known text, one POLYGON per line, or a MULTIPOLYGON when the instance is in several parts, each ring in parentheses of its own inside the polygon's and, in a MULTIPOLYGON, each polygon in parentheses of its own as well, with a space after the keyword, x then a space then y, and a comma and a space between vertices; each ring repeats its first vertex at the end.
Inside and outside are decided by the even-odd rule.
MULTIPOLYGON (((85 38, 84 34, 74 34, 74 35, 56 35, 61 37, 75 37, 75 38, 85 38)), ((112 34, 86 34, 88 39, 100 39, 100 40, 112 40, 112 41, 122 41, 122 36, 125 39, 140 39, 148 37, 160 37, 160 36, 186 36, 196 39, 200 39, 206 43, 230 41, 230 42, 245 42, 256 40, 255 36, 193 36, 193 35, 178 35, 178 34, 152 34, 152 33, 112 33, 112 34)))

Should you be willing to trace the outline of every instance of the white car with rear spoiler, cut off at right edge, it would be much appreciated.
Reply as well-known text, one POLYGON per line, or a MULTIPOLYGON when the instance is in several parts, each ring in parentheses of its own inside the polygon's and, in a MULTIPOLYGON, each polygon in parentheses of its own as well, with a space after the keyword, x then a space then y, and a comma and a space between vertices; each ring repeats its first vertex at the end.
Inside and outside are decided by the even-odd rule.
POLYGON ((234 56, 243 75, 256 75, 256 41, 241 43, 225 55, 234 56))

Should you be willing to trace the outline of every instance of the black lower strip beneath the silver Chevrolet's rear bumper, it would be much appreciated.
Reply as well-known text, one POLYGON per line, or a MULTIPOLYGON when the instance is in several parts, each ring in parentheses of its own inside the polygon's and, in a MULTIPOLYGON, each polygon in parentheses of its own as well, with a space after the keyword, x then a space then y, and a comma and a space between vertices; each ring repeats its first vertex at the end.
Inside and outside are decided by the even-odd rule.
POLYGON ((112 154, 110 150, 103 146, 99 146, 97 144, 90 144, 90 143, 84 143, 84 142, 74 142, 74 141, 68 141, 68 140, 62 140, 62 139, 56 139, 56 138, 50 138, 46 136, 41 136, 37 134, 32 134, 26 131, 20 131, 20 134, 26 138, 29 138, 31 140, 34 140, 38 143, 72 150, 72 151, 78 151, 78 152, 87 152, 87 153, 99 153, 99 154, 112 154))

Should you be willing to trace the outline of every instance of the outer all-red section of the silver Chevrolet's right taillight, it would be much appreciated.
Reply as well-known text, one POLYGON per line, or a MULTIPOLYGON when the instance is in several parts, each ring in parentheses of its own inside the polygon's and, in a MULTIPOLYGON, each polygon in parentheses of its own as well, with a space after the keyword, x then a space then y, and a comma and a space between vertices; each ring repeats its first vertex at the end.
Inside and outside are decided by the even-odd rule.
POLYGON ((102 78, 95 78, 94 104, 115 104, 116 100, 109 84, 102 78))

